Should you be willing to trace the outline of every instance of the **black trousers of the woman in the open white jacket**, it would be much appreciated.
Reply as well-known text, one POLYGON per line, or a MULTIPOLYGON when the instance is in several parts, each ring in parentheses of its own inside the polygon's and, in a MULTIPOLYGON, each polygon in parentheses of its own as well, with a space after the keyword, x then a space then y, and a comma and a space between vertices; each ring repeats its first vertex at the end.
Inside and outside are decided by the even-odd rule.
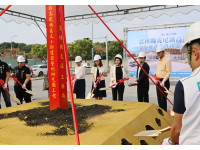
POLYGON ((115 88, 112 88, 112 97, 113 100, 117 100, 117 95, 118 95, 118 100, 123 101, 123 96, 124 96, 124 84, 117 85, 115 88))

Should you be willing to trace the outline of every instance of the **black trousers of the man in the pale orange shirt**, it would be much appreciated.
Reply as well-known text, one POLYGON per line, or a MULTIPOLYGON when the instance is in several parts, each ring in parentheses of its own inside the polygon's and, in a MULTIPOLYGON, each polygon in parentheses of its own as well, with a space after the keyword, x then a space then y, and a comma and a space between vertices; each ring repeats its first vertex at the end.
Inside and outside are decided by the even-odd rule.
MULTIPOLYGON (((163 79, 160 79, 162 82, 163 79)), ((164 95, 167 97, 167 93, 165 93, 165 89, 161 87, 161 85, 158 83, 158 87, 162 90, 164 95)), ((165 87, 169 90, 170 88, 170 83, 169 79, 165 82, 165 87)), ((161 107, 163 110, 167 111, 167 98, 160 92, 158 88, 156 88, 156 93, 157 93, 157 99, 158 99, 158 106, 161 107)))

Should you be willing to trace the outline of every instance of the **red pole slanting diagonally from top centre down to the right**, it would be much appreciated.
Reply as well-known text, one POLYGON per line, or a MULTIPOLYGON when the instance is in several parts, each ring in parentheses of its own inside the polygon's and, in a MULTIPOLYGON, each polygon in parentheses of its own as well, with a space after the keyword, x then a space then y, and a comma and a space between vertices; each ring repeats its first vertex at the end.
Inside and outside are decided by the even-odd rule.
MULTIPOLYGON (((127 53, 133 58, 133 60, 138 64, 138 66, 144 71, 144 73, 148 76, 148 78, 155 84, 155 86, 159 89, 159 91, 166 97, 166 99, 171 103, 171 101, 167 98, 167 96, 163 93, 163 91, 156 85, 153 79, 148 75, 148 73, 142 68, 142 66, 138 63, 138 61, 131 55, 129 50, 124 46, 124 44, 118 39, 118 37, 112 32, 112 30, 106 25, 106 23, 101 19, 101 17, 96 13, 96 11, 88 5, 89 8, 95 13, 95 15, 101 20, 101 22, 106 26, 106 28, 110 31, 110 33, 116 38, 116 40, 122 45, 122 47, 127 51, 127 53)), ((172 104, 172 103, 171 103, 172 104)), ((173 105, 173 104, 172 104, 173 105)))

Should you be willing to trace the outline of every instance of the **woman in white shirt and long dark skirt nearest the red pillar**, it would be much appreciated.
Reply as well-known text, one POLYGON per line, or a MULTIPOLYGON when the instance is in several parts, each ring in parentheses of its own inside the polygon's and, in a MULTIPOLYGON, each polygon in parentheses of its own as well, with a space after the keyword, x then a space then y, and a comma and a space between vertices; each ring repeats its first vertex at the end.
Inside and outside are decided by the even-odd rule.
POLYGON ((75 84, 73 93, 76 94, 76 98, 85 99, 85 68, 81 65, 81 56, 75 58, 75 84))

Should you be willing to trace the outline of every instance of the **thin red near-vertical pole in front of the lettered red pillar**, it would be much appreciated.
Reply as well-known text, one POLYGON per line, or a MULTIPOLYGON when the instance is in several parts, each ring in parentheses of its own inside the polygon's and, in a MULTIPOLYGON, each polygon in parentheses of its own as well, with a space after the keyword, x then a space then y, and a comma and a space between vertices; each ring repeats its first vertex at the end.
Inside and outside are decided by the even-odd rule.
POLYGON ((69 80, 69 90, 70 90, 70 97, 71 97, 71 105, 72 105, 72 114, 73 114, 73 120, 74 120, 74 128, 75 128, 75 134, 76 134, 76 142, 77 142, 77 145, 80 145, 79 133, 78 133, 78 125, 77 125, 77 119, 76 119, 76 111, 75 111, 75 105, 74 105, 74 97, 73 97, 73 91, 72 91, 72 82, 71 82, 71 77, 70 77, 71 74, 70 74, 68 51, 67 51, 67 41, 66 41, 66 35, 65 35, 64 6, 60 5, 59 8, 60 8, 60 13, 61 13, 61 25, 62 25, 63 45, 64 45, 64 52, 65 52, 65 59, 66 59, 68 80, 69 80))

